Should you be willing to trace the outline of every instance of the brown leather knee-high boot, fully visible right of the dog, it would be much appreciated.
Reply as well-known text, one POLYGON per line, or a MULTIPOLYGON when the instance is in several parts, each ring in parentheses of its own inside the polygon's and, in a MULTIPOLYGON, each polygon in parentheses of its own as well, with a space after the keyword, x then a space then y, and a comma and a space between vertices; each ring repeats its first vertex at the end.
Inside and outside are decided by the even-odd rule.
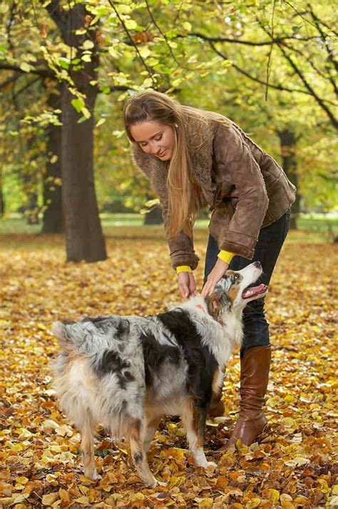
POLYGON ((240 361, 240 415, 227 441, 230 447, 238 438, 250 445, 264 430, 267 419, 263 413, 269 379, 271 346, 255 346, 240 361))

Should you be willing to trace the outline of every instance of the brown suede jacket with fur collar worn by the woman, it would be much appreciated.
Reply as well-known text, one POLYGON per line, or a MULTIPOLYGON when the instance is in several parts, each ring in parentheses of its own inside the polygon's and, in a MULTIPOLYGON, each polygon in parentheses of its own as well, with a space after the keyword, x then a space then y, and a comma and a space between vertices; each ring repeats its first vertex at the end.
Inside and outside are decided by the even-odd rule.
MULTIPOLYGON (((210 119, 207 111, 201 113, 203 124, 187 119, 185 128, 190 146, 198 147, 190 150, 190 160, 202 201, 212 210, 210 234, 220 249, 250 259, 260 228, 277 221, 287 211, 295 201, 296 188, 281 166, 240 127, 232 121, 224 125, 210 119)), ((168 163, 146 154, 136 143, 133 160, 160 198, 168 238, 168 163)), ((168 243, 173 268, 198 265, 192 238, 181 232, 168 238, 168 243)))

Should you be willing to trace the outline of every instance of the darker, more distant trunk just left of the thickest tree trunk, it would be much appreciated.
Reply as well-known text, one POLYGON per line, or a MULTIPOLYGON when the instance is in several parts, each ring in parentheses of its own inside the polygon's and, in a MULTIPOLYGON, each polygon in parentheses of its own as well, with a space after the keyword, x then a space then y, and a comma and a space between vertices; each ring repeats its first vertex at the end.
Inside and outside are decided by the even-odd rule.
MULTIPOLYGON (((49 94, 48 106, 61 108, 61 87, 49 94)), ((43 178, 43 225, 42 233, 62 233, 64 231, 61 184, 61 126, 49 124, 47 132, 46 175, 43 178), (51 158, 56 156, 56 161, 51 158)))

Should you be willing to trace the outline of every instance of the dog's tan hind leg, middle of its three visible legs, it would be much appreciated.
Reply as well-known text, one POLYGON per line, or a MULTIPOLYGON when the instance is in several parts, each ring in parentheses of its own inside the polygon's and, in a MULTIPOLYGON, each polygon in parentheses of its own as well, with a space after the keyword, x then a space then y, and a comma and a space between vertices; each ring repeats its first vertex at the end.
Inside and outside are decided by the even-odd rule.
POLYGON ((163 483, 160 483, 158 480, 156 480, 153 474, 150 472, 147 453, 144 449, 144 439, 145 425, 144 423, 140 423, 139 420, 135 420, 130 426, 129 435, 133 463, 138 472, 138 475, 140 475, 140 478, 142 478, 144 482, 151 488, 155 488, 156 485, 162 485, 163 483))

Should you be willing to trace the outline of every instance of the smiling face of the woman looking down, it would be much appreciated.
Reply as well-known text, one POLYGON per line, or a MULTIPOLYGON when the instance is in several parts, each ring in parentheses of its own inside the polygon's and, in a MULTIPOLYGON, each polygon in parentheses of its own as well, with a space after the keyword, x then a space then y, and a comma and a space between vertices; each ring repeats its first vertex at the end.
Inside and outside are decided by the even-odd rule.
POLYGON ((130 127, 131 136, 145 153, 169 161, 175 148, 175 133, 171 126, 156 121, 145 121, 130 127))

